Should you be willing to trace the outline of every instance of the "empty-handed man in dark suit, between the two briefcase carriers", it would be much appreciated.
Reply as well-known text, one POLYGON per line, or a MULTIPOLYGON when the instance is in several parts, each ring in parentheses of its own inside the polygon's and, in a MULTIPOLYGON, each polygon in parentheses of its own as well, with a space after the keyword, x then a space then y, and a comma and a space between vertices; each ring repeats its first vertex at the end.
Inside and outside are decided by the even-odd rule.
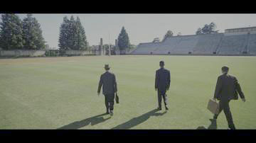
POLYGON ((164 105, 166 110, 169 110, 167 107, 167 95, 166 91, 170 88, 171 83, 171 76, 170 71, 164 69, 164 61, 160 61, 160 69, 156 71, 156 80, 155 80, 155 89, 158 95, 159 107, 158 109, 161 110, 161 98, 164 98, 164 105))

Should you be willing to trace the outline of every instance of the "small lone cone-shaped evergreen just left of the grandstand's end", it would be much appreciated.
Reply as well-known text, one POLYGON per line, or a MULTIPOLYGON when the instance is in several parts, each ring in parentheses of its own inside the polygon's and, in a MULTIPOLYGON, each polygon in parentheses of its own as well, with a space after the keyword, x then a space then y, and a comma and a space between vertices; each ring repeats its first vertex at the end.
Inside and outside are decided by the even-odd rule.
POLYGON ((118 36, 118 47, 120 50, 126 50, 129 46, 129 36, 123 26, 121 33, 118 36))

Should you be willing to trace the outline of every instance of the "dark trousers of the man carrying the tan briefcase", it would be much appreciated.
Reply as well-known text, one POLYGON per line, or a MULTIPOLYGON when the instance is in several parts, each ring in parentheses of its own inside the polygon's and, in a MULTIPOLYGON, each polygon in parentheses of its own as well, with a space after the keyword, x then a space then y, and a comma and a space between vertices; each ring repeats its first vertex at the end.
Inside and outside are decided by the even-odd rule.
MULTIPOLYGON (((231 111, 230 111, 229 102, 230 102, 230 100, 223 100, 223 101, 219 102, 219 105, 220 105, 220 112, 219 112, 219 114, 223 110, 224 113, 225 113, 225 117, 226 117, 226 119, 228 121, 228 127, 230 127, 230 129, 235 129, 235 125, 234 125, 234 122, 233 122, 232 114, 231 114, 231 111)), ((218 115, 215 115, 216 119, 218 118, 218 115)))

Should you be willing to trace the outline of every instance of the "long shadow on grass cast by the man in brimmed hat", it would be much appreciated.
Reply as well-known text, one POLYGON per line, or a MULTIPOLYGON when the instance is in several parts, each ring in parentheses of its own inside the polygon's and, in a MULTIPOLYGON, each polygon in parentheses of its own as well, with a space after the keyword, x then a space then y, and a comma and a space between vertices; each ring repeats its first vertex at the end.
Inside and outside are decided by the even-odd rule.
POLYGON ((103 115, 107 115, 106 113, 104 114, 100 114, 100 115, 95 115, 91 118, 87 118, 87 119, 84 119, 84 120, 80 120, 80 121, 76 121, 76 122, 72 122, 68 125, 64 125, 63 127, 60 127, 58 129, 60 130, 65 130, 65 129, 79 129, 81 127, 85 127, 89 124, 91 125, 97 125, 99 124, 100 122, 105 122, 105 120, 109 120, 109 118, 106 118, 104 119, 102 116, 103 115))

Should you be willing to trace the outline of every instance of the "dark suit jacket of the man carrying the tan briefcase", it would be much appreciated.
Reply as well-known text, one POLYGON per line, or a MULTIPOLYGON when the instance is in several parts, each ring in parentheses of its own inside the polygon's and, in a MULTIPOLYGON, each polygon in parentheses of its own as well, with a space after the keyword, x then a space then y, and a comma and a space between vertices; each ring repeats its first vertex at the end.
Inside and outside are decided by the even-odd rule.
POLYGON ((236 79, 235 76, 229 74, 218 76, 214 98, 217 98, 219 101, 238 100, 238 93, 240 98, 245 98, 240 84, 238 83, 238 79, 236 79))

